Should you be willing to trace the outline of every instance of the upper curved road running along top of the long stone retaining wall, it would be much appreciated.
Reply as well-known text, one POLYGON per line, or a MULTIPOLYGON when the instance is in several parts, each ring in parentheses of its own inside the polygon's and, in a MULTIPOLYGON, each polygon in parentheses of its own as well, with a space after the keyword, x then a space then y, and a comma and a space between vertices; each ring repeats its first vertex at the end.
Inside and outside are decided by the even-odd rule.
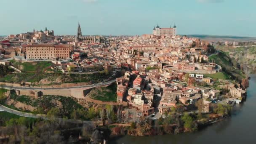
POLYGON ((69 88, 88 88, 88 87, 98 87, 98 86, 103 86, 103 85, 109 85, 111 83, 114 83, 115 80, 110 80, 105 83, 97 83, 93 85, 82 85, 82 86, 74 86, 74 87, 64 87, 64 88, 33 88, 33 87, 11 87, 11 86, 3 86, 5 89, 30 89, 30 90, 56 90, 56 89, 69 89, 69 88))

